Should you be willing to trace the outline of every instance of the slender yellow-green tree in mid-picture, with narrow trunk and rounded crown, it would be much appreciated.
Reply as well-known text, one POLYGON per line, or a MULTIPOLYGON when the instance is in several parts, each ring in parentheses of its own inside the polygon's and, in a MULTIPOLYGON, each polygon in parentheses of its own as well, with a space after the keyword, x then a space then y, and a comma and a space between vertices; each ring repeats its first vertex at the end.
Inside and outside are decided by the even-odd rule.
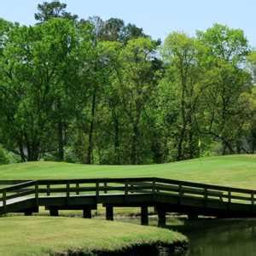
POLYGON ((142 119, 146 106, 156 90, 159 79, 155 51, 157 44, 150 38, 128 41, 120 53, 119 97, 129 120, 131 136, 130 157, 132 164, 142 161, 143 131, 142 119))

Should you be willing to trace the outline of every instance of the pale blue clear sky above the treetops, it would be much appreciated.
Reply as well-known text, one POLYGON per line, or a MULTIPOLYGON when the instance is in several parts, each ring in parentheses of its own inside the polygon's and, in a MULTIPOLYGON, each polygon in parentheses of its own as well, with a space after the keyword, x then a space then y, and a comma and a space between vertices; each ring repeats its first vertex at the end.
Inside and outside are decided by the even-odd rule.
MULTIPOLYGON (((45 1, 45 0, 44 0, 45 1)), ((20 24, 35 23, 40 0, 0 0, 0 17, 20 24)), ((49 2, 49 1, 48 1, 49 2)), ((143 27, 153 38, 164 40, 173 31, 193 36, 221 23, 244 30, 249 44, 256 47, 255 0, 62 0, 67 10, 80 18, 99 15, 103 20, 120 18, 143 27)))

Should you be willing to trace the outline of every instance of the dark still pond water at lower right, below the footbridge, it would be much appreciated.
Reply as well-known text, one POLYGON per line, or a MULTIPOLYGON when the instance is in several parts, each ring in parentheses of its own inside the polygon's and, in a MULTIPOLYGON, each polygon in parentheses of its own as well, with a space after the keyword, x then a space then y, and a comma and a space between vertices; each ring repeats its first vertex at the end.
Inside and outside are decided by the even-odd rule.
MULTIPOLYGON (((139 219, 125 221, 139 223, 139 219)), ((149 223, 156 225, 156 220, 149 223)), ((167 227, 189 237, 189 251, 183 256, 256 256, 256 219, 171 218, 167 227)))

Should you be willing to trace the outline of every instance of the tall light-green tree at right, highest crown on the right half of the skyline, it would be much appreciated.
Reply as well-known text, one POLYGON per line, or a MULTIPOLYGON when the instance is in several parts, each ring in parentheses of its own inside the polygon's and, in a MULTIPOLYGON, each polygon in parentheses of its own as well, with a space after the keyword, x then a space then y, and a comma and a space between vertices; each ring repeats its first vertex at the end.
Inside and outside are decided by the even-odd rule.
POLYGON ((206 74, 211 86, 204 94, 208 110, 206 133, 221 141, 222 154, 234 153, 236 127, 241 120, 239 99, 251 86, 249 74, 241 68, 248 52, 247 39, 241 30, 219 24, 197 36, 207 46, 211 67, 206 74))

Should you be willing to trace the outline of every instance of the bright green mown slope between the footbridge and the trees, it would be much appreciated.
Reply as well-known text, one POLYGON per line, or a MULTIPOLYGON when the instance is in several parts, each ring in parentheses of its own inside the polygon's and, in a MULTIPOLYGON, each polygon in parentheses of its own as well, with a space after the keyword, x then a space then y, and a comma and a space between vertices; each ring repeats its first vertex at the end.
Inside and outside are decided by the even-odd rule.
POLYGON ((256 189, 256 154, 228 155, 148 166, 29 162, 0 166, 0 179, 166 177, 256 189))

